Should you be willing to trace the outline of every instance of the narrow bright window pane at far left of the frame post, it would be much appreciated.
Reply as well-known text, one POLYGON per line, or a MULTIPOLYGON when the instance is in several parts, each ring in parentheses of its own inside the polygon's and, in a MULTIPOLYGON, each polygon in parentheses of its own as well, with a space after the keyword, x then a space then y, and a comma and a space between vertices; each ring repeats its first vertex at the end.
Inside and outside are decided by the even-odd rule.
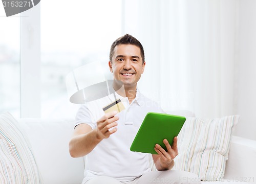
POLYGON ((0 6, 0 112, 20 116, 20 17, 0 6))

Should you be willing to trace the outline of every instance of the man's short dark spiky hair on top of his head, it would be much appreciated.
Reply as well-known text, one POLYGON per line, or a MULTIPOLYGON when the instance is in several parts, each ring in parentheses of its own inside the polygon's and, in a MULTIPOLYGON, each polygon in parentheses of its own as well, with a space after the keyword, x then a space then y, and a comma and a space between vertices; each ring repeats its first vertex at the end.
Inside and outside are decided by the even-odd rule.
POLYGON ((145 54, 144 49, 142 47, 142 44, 139 40, 137 40, 135 37, 131 36, 130 34, 125 34, 124 36, 121 36, 117 38, 111 45, 110 49, 110 62, 112 62, 112 57, 114 55, 114 49, 119 44, 133 44, 140 48, 140 55, 142 57, 142 64, 145 62, 145 54))

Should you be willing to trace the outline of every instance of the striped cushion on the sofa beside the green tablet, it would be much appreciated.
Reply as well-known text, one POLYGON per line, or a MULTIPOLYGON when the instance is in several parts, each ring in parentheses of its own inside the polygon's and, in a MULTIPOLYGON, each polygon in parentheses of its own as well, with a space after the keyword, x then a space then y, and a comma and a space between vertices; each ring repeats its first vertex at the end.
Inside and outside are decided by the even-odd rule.
POLYGON ((239 116, 220 119, 187 118, 179 135, 179 155, 173 170, 195 173, 202 180, 224 177, 232 129, 239 116))

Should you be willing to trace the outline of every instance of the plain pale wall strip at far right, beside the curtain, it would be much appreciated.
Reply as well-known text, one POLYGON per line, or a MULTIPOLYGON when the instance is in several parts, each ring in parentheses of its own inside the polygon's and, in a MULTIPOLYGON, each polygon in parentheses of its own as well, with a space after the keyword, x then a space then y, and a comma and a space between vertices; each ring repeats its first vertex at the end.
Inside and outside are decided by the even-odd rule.
POLYGON ((239 1, 236 134, 256 140, 256 1, 239 1))

